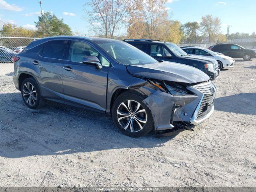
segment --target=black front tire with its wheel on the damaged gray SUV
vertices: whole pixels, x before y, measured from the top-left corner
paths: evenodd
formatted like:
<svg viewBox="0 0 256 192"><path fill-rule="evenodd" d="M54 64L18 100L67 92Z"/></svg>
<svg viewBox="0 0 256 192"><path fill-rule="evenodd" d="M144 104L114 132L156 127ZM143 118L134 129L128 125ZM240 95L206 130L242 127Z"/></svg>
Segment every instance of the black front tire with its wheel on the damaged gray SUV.
<svg viewBox="0 0 256 192"><path fill-rule="evenodd" d="M112 107L112 119L115 126L120 130L120 132L130 137L140 137L148 134L154 128L154 121L153 121L151 111L143 103L143 100L144 98L140 94L136 94L134 92L124 92L120 94L118 98L116 98ZM130 101L129 109L132 108L132 110L134 110L132 111L131 114L129 114L128 110L126 110L127 108L122 105L122 103L124 103L128 106L128 101ZM136 110L138 106L139 108ZM122 109L126 111L125 116L123 114L121 116L118 114L120 112L123 112ZM143 111L143 112L138 113L138 111ZM126 116L129 116L129 117L126 117ZM124 118L118 121L120 117L124 117ZM145 120L146 120L146 123L142 123L142 121L145 121ZM129 121L131 122L130 124L128 124ZM126 129L123 128L127 126L127 124L128 124L128 128Z"/></svg>

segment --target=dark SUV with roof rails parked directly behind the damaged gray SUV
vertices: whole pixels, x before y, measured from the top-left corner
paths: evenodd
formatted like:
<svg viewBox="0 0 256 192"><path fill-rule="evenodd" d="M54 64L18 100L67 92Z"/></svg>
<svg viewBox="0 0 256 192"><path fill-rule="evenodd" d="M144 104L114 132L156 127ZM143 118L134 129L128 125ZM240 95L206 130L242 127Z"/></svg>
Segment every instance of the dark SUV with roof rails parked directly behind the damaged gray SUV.
<svg viewBox="0 0 256 192"><path fill-rule="evenodd" d="M216 79L220 73L216 60L189 55L173 43L150 39L125 39L123 41L149 54L156 60L176 62L198 68L206 73L211 80Z"/></svg>

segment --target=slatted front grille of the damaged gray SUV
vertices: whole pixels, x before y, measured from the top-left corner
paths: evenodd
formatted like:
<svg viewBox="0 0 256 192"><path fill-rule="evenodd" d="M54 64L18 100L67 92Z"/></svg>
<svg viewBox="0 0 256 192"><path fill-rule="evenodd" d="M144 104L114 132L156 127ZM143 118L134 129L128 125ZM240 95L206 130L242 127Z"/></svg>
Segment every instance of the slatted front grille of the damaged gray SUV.
<svg viewBox="0 0 256 192"><path fill-rule="evenodd" d="M204 94L200 108L197 113L197 118L199 118L204 114L207 114L207 112L212 108L215 94L212 82L198 84L194 87Z"/></svg>

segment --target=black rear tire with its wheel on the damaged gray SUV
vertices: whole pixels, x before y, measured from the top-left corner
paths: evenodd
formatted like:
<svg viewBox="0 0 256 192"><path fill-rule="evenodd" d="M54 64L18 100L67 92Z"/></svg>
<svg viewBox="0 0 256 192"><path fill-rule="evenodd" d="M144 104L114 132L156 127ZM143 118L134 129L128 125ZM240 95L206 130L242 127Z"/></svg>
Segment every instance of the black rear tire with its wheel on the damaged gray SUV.
<svg viewBox="0 0 256 192"><path fill-rule="evenodd" d="M41 97L40 89L34 78L26 78L20 89L22 99L29 108L38 109L45 105L45 100Z"/></svg>

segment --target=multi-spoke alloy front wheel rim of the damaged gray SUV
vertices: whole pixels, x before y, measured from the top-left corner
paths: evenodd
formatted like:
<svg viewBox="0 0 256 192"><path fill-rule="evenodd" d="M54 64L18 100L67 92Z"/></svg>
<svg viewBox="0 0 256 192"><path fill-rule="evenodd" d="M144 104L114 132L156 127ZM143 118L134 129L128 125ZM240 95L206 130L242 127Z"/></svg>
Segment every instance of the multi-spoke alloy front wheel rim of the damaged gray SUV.
<svg viewBox="0 0 256 192"><path fill-rule="evenodd" d="M144 107L137 101L127 100L118 106L117 120L124 130L138 132L147 123L147 114Z"/></svg>

